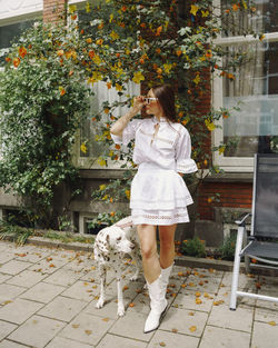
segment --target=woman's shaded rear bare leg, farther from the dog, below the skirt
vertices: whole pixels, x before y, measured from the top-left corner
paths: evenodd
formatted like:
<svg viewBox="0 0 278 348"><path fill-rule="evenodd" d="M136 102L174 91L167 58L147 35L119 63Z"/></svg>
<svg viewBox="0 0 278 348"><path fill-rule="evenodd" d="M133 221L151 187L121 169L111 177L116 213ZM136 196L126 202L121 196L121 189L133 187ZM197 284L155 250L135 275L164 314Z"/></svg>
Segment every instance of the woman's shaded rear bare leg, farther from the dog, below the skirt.
<svg viewBox="0 0 278 348"><path fill-rule="evenodd" d="M168 268L175 258L175 231L177 225L159 226L160 267Z"/></svg>

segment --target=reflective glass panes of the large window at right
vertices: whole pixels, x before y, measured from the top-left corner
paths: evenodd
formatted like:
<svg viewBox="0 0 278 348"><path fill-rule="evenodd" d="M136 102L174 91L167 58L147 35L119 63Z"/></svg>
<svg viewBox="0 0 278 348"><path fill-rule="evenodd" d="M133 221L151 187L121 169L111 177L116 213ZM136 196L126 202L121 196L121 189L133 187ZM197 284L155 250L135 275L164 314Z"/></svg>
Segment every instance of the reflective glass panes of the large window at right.
<svg viewBox="0 0 278 348"><path fill-rule="evenodd" d="M227 3L228 1L226 1ZM277 1L257 1L264 30L271 26ZM278 19L276 9L276 16ZM249 18L250 20L250 18ZM230 34L230 33L229 33ZM237 53L244 53L244 63L229 68L235 76L224 79L224 107L237 108L224 120L226 157L252 157L256 152L278 152L278 42L258 41L227 47L224 66L230 67Z"/></svg>

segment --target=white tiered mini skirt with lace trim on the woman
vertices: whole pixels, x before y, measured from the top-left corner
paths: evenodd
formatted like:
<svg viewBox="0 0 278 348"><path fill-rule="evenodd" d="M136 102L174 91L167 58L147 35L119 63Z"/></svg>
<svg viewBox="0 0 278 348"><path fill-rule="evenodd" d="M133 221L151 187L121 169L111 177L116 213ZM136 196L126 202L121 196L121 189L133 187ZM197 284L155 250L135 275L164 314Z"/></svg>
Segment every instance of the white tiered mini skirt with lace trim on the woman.
<svg viewBox="0 0 278 348"><path fill-rule="evenodd" d="M173 169L152 163L139 166L131 183L130 208L135 225L173 225L188 222L187 206L192 198L182 179Z"/></svg>

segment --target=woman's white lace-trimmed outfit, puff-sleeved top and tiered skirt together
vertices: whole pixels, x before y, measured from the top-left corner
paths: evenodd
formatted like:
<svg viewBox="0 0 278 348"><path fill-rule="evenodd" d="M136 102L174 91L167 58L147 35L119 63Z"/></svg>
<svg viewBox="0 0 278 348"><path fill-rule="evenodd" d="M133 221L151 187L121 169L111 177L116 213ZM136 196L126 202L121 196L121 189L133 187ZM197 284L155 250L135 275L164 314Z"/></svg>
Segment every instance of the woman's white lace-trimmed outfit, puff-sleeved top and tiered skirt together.
<svg viewBox="0 0 278 348"><path fill-rule="evenodd" d="M178 172L197 171L191 156L191 140L180 123L133 119L116 143L135 139L133 162L139 166L131 183L130 208L135 225L173 225L188 222L187 206L192 203L188 188Z"/></svg>

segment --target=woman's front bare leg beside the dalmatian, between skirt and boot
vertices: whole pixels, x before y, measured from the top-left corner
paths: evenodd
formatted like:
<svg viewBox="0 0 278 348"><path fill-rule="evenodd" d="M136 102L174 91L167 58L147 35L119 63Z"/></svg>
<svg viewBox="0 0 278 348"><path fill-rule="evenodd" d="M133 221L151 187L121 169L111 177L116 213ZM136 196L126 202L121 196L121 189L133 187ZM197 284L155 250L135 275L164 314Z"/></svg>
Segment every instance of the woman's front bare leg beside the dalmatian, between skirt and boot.
<svg viewBox="0 0 278 348"><path fill-rule="evenodd" d="M161 274L161 267L157 253L157 227L153 225L138 225L137 231L141 245L145 278L148 284L151 284Z"/></svg>

